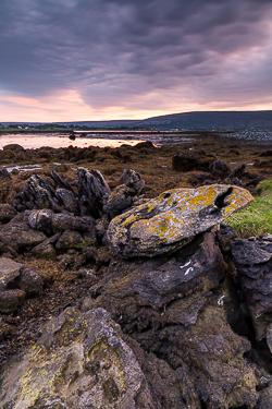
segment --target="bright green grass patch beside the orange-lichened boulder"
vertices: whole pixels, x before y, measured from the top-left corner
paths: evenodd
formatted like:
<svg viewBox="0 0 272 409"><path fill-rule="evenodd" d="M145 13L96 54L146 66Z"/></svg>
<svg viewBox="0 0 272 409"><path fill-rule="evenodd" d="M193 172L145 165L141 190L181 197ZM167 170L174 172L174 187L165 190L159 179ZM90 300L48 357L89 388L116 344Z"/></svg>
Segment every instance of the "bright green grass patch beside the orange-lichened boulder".
<svg viewBox="0 0 272 409"><path fill-rule="evenodd" d="M254 203L226 219L239 237L249 238L261 233L272 234L272 181L264 180L257 187Z"/></svg>

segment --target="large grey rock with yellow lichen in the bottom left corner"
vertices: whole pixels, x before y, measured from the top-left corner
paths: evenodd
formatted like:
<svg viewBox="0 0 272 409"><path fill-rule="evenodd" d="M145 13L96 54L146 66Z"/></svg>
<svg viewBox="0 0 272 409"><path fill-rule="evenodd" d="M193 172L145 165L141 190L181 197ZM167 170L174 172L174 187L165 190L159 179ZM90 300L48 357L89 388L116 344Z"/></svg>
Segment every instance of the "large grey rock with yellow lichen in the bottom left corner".
<svg viewBox="0 0 272 409"><path fill-rule="evenodd" d="M0 380L4 408L158 408L120 326L103 309L66 309Z"/></svg>

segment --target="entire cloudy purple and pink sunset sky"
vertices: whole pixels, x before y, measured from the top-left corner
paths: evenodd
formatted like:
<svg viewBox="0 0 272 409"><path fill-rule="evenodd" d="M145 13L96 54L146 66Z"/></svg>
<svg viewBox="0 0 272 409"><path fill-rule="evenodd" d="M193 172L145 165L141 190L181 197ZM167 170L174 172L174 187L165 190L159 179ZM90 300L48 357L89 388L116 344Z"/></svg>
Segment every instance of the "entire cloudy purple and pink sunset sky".
<svg viewBox="0 0 272 409"><path fill-rule="evenodd" d="M1 0L0 121L272 109L272 0Z"/></svg>

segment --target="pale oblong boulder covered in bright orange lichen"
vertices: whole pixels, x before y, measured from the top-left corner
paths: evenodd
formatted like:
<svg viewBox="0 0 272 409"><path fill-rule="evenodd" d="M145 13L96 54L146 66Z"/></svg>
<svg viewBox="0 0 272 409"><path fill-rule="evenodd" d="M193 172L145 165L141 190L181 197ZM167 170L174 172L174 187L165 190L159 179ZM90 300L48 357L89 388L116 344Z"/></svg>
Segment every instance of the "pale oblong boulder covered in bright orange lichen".
<svg viewBox="0 0 272 409"><path fill-rule="evenodd" d="M223 184L166 191L115 217L108 229L110 246L124 257L173 252L252 200L245 189Z"/></svg>

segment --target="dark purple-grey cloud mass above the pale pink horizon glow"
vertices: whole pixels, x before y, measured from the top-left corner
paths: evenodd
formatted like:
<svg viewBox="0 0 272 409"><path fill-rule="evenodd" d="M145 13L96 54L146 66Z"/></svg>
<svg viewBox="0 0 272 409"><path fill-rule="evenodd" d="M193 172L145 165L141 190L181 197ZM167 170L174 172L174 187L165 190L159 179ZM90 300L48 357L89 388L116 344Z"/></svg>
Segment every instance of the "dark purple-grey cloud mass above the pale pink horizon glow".
<svg viewBox="0 0 272 409"><path fill-rule="evenodd" d="M0 87L36 97L75 88L92 106L188 84L200 99L240 81L268 91L270 56L227 70L230 56L269 41L271 10L268 0L2 0Z"/></svg>

